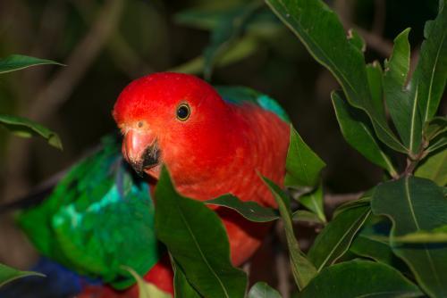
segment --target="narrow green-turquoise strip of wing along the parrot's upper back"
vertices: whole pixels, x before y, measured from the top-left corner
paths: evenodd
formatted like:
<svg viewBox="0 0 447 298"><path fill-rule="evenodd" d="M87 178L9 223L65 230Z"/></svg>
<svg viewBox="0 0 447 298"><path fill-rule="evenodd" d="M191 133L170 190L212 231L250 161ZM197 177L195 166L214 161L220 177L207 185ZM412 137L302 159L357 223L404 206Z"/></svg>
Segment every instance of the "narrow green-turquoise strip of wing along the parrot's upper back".
<svg viewBox="0 0 447 298"><path fill-rule="evenodd" d="M291 122L289 116L283 110L281 105L268 95L257 92L249 87L218 86L215 87L215 89L219 95L223 97L223 100L229 103L254 103L267 111L274 112L279 118L287 123Z"/></svg>

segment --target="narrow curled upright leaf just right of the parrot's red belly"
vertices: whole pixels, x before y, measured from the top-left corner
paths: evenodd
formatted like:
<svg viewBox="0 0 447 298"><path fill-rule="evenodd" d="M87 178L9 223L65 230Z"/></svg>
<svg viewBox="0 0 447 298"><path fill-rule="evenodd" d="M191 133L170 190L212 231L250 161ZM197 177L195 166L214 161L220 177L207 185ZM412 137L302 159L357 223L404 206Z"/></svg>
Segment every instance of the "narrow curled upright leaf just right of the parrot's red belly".
<svg viewBox="0 0 447 298"><path fill-rule="evenodd" d="M276 186L273 181L265 177L263 179L274 195L274 200L278 203L278 208L284 223L287 246L289 247L291 272L295 278L295 283L297 284L299 290L301 290L308 285L308 282L313 277L316 276L316 269L314 265L308 261L306 255L299 249L297 238L293 232L290 198L279 186Z"/></svg>

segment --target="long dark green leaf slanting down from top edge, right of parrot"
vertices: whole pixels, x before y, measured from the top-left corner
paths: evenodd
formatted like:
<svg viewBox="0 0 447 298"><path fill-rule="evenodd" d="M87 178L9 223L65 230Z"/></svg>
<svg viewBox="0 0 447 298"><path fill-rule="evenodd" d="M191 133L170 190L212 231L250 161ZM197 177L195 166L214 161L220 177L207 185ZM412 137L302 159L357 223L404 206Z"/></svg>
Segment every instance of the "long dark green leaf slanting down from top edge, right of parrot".
<svg viewBox="0 0 447 298"><path fill-rule="evenodd" d="M377 137L392 149L407 153L389 128L384 112L375 109L365 58L358 46L346 37L337 15L321 0L266 0L266 3L299 37L316 61L333 73L349 103L367 112Z"/></svg>

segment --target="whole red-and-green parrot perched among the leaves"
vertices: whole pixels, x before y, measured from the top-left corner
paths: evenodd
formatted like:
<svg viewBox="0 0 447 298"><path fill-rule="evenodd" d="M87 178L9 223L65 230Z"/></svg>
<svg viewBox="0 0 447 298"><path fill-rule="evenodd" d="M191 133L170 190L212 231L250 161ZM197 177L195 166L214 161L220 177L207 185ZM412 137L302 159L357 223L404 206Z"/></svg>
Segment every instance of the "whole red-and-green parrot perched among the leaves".
<svg viewBox="0 0 447 298"><path fill-rule="evenodd" d="M172 72L132 81L113 116L122 145L119 137L105 137L96 153L74 165L19 222L42 254L80 274L80 297L136 297L134 279L122 265L173 294L173 272L156 242L150 195L162 165L181 195L205 201L232 194L276 207L260 175L283 186L290 120L257 91L214 88ZM209 207L223 220L232 263L239 266L256 252L270 224Z"/></svg>

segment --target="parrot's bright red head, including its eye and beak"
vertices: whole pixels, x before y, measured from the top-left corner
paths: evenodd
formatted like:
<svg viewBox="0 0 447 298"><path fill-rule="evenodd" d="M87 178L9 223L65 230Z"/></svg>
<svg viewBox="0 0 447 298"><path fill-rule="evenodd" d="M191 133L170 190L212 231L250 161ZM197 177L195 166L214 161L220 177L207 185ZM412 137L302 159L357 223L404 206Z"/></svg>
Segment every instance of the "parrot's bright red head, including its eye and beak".
<svg viewBox="0 0 447 298"><path fill-rule="evenodd" d="M228 156L231 108L194 76L155 73L122 90L113 116L124 137L122 154L140 175L213 167ZM188 179L188 175L184 175Z"/></svg>

